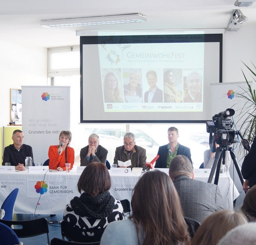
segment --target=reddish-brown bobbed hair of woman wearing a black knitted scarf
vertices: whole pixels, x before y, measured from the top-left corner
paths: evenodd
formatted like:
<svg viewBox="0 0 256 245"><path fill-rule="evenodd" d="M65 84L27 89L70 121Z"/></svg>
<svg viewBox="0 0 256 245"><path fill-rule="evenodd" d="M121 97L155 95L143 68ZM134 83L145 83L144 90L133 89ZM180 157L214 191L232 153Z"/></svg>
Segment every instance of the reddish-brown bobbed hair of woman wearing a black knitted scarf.
<svg viewBox="0 0 256 245"><path fill-rule="evenodd" d="M103 163L92 162L86 166L78 180L79 193L86 192L97 196L111 187L111 179L107 167Z"/></svg>

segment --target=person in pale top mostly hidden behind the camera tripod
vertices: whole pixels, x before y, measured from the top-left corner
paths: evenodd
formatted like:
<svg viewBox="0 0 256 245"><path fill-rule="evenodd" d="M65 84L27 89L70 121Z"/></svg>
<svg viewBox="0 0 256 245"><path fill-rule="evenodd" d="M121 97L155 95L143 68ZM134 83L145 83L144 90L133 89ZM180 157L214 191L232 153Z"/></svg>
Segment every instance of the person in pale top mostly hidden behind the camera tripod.
<svg viewBox="0 0 256 245"><path fill-rule="evenodd" d="M215 143L215 147L219 147L217 143ZM223 157L224 152L221 157ZM215 152L212 152L211 149L204 151L203 153L203 168L211 168L214 162ZM223 159L222 159L223 161ZM229 151L225 151L225 165L221 164L221 168L224 168L224 172L226 172L231 164L231 155Z"/></svg>

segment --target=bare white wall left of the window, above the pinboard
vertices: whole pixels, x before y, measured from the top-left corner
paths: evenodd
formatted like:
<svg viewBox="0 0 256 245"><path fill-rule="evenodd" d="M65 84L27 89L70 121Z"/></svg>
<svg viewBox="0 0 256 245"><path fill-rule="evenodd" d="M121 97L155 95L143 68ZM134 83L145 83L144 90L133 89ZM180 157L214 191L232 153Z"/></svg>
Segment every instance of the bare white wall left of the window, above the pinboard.
<svg viewBox="0 0 256 245"><path fill-rule="evenodd" d="M19 38L12 41L0 39L0 126L10 122L10 88L47 85L47 48L21 46Z"/></svg>

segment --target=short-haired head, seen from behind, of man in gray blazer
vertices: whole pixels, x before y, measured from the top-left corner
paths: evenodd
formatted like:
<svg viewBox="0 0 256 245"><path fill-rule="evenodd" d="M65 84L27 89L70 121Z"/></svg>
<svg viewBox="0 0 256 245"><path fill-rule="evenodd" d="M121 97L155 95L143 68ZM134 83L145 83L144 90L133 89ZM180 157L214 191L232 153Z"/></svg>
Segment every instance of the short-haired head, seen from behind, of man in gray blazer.
<svg viewBox="0 0 256 245"><path fill-rule="evenodd" d="M171 179L175 179L180 175L186 175L189 178L193 176L193 167L190 160L183 155L178 155L171 160L169 167L169 175Z"/></svg>

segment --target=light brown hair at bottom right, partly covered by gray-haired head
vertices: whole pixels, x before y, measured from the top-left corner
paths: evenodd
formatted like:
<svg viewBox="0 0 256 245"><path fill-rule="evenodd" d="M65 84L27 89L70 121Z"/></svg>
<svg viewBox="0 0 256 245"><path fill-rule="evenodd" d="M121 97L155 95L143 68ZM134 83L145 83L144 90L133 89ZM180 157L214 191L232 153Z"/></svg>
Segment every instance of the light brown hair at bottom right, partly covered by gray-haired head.
<svg viewBox="0 0 256 245"><path fill-rule="evenodd" d="M220 210L208 216L198 228L191 245L216 245L234 227L247 223L245 216L230 210Z"/></svg>

